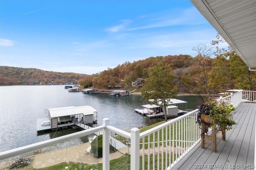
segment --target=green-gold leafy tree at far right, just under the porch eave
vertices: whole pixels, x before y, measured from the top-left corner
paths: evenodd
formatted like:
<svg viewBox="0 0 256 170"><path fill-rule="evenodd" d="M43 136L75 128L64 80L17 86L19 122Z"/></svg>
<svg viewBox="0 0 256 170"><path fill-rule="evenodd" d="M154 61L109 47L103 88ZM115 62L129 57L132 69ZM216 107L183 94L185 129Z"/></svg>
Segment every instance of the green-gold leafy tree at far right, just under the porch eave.
<svg viewBox="0 0 256 170"><path fill-rule="evenodd" d="M225 44L225 46L223 45ZM218 34L212 41L216 45L216 58L210 72L210 86L224 91L226 89L253 90L256 84L256 73L250 71L242 59ZM222 47L222 48L221 48Z"/></svg>

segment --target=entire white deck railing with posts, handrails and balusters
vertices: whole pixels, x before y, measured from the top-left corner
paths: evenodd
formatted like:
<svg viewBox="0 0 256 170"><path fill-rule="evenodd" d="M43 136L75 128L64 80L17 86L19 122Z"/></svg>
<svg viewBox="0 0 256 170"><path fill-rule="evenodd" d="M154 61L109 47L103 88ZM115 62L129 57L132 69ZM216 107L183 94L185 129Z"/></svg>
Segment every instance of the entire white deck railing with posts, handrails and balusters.
<svg viewBox="0 0 256 170"><path fill-rule="evenodd" d="M241 91L222 100L238 106L242 99L255 102L255 96L255 91ZM110 132L130 140L130 147L128 146L127 149L130 154L130 169L171 169L200 142L200 129L196 124L197 114L198 109L190 111L142 133L138 128L131 129L130 133L122 131L111 126L110 120L105 118L102 121L103 125L98 127L0 152L0 161L102 131L104 170L110 169ZM141 165L140 162L142 162Z"/></svg>

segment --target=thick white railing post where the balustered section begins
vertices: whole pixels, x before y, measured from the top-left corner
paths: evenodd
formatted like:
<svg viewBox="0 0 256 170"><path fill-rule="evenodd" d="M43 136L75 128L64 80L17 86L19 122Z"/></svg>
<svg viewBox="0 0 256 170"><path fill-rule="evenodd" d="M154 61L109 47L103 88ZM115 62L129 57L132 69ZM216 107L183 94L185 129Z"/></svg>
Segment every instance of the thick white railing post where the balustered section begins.
<svg viewBox="0 0 256 170"><path fill-rule="evenodd" d="M140 168L140 129L131 129L131 170Z"/></svg>

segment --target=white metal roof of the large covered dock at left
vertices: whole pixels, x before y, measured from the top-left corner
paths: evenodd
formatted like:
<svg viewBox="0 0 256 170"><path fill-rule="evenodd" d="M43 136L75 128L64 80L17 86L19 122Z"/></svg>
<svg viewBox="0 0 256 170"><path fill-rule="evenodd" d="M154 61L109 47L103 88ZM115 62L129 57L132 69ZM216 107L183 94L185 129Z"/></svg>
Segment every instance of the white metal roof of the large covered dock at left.
<svg viewBox="0 0 256 170"><path fill-rule="evenodd" d="M70 106L70 107L58 107L48 109L51 117L61 117L61 116L68 116L68 115L77 115L77 114L84 114L84 115L92 115L97 110L95 110L91 106Z"/></svg>

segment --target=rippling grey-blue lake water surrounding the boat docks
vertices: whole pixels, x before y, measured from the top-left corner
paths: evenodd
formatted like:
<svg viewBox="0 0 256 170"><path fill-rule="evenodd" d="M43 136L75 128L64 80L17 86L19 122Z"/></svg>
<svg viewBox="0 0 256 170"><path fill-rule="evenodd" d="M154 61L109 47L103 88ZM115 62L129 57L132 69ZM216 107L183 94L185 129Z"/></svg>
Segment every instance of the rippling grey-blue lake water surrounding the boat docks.
<svg viewBox="0 0 256 170"><path fill-rule="evenodd" d="M36 119L44 118L44 109L67 106L92 106L98 111L98 125L103 118L110 119L110 125L124 131L134 127L148 126L163 118L149 119L136 112L143 104L140 95L108 96L108 94L83 94L68 92L64 85L58 86L1 86L0 87L0 152L32 143L59 137L79 129L52 131L38 135ZM188 102L187 108L194 109L200 96L179 96ZM64 143L65 147L88 142L89 137ZM58 149L52 146L48 150Z"/></svg>

